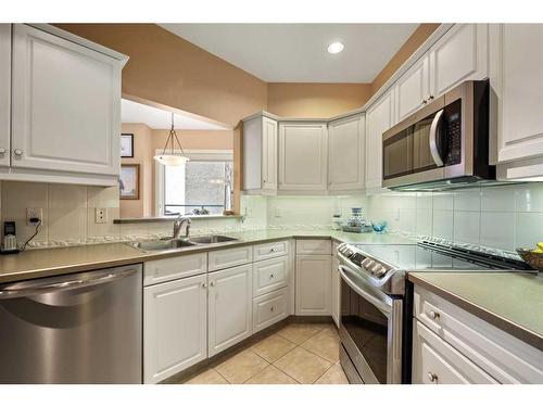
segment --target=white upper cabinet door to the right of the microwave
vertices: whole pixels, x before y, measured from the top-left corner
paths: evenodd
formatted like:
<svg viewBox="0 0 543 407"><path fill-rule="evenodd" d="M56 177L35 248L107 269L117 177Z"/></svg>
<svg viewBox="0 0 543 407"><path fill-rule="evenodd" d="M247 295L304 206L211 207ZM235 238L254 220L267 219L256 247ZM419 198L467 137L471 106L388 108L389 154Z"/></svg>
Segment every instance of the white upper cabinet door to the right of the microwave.
<svg viewBox="0 0 543 407"><path fill-rule="evenodd" d="M542 155L543 24L492 25L490 53L497 162Z"/></svg>

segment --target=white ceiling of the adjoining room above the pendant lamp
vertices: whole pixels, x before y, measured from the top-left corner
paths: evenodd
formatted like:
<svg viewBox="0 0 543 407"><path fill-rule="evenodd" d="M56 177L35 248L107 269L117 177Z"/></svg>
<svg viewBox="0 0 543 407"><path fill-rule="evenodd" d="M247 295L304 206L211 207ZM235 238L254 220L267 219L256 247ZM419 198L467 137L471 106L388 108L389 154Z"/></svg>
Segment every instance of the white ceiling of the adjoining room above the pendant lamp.
<svg viewBox="0 0 543 407"><path fill-rule="evenodd" d="M123 99L121 122L144 123L152 129L168 129L172 126L172 112ZM176 130L226 130L226 127L199 119L189 114L175 113L174 123Z"/></svg>

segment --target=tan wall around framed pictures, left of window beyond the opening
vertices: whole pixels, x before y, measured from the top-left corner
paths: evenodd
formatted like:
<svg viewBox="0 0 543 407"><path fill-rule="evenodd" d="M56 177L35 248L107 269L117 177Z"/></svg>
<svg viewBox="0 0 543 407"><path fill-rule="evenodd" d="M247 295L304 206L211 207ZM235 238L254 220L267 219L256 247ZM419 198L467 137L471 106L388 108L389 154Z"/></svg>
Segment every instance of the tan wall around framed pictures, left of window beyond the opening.
<svg viewBox="0 0 543 407"><path fill-rule="evenodd" d="M139 164L139 200L121 200L121 217L151 216L153 213L153 135L144 124L123 124L122 132L134 133L134 158L121 164Z"/></svg>

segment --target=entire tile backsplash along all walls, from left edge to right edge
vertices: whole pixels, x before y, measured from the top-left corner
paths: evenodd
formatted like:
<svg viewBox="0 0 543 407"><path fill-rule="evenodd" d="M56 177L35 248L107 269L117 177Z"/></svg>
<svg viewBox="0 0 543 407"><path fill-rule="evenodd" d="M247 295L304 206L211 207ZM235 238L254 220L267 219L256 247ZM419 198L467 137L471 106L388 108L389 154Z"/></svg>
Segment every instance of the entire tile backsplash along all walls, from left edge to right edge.
<svg viewBox="0 0 543 407"><path fill-rule="evenodd" d="M0 182L0 218L15 220L17 240L26 226L26 208L40 207L43 222L30 246L59 246L165 237L172 222L114 225L119 217L118 188L36 182ZM96 208L108 221L94 221ZM389 229L513 251L543 241L543 182L472 188L452 192L384 193L366 196L241 196L242 219L193 219L192 233L251 229L329 229L332 215L350 216L363 207L371 220Z"/></svg>

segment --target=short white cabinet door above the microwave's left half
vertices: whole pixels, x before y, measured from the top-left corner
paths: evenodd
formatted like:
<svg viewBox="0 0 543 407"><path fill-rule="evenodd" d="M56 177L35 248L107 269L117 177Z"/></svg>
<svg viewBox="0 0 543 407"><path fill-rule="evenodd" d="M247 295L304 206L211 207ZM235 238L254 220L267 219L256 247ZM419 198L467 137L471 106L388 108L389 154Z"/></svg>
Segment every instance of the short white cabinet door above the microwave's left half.
<svg viewBox="0 0 543 407"><path fill-rule="evenodd" d="M397 122L425 106L430 99L430 72L427 55L418 60L394 86Z"/></svg>

